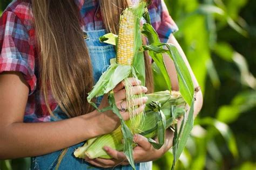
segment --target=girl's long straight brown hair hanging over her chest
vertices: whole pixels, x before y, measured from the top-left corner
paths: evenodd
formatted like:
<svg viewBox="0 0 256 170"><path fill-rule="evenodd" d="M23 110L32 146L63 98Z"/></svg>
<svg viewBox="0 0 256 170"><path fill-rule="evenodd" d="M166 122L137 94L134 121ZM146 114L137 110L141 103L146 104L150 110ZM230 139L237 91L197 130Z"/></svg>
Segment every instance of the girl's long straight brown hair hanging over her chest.
<svg viewBox="0 0 256 170"><path fill-rule="evenodd" d="M117 34L120 13L130 0L99 1L106 30ZM41 91L50 114L48 90L69 117L92 111L87 93L93 86L92 66L83 38L80 12L75 0L32 0L39 54ZM111 12L110 12L111 11ZM153 78L147 54L146 86L153 91Z"/></svg>

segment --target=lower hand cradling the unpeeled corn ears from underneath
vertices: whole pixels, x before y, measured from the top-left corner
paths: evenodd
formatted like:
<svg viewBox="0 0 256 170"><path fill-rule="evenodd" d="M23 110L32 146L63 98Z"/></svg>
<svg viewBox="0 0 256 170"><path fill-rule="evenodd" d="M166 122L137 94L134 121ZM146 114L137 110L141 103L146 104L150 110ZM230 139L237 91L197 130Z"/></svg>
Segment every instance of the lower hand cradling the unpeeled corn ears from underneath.
<svg viewBox="0 0 256 170"><path fill-rule="evenodd" d="M147 141L147 138L145 138L144 136L141 136L140 134L134 135L133 140L135 143L138 144L138 146L133 148L134 162L137 163L156 160L160 158L165 152L167 152L172 146L173 132L170 130L166 130L165 134L165 144L159 150L154 149L154 147L149 143L149 141ZM157 139L156 142L158 142ZM107 146L105 146L104 149L107 152L107 154L113 157L112 159L85 158L85 160L92 165L103 168L129 164L129 162L126 159L126 156L124 155L124 152L118 152Z"/></svg>

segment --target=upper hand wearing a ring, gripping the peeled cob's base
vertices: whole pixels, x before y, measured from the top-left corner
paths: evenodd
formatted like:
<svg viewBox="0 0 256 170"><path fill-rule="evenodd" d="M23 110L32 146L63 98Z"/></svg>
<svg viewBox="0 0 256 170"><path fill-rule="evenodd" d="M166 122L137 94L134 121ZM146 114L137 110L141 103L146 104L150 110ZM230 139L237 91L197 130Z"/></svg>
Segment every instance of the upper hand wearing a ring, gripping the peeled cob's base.
<svg viewBox="0 0 256 170"><path fill-rule="evenodd" d="M146 93L147 88L144 86L140 86L140 81L138 79L134 79L134 78L129 78L129 81L132 84L132 91L133 94L142 94L142 93ZM127 103L125 101L126 99L126 91L124 88L124 82L120 82L119 84L117 84L117 86L113 89L114 92L114 100L116 101L116 105L118 107L118 109L120 108L126 108L127 107ZM134 113L135 114L139 114L140 112L142 112L145 108L145 103L147 101L147 97L142 97L142 98L136 98L134 100L134 103L136 103L136 105L138 105L137 109L134 109ZM122 104L122 107L121 107ZM99 105L99 109L103 109L105 107L109 106L109 102L107 100L107 95L103 96L103 100L102 103L100 103ZM110 133L113 130L117 129L118 126L120 125L120 120L119 118L112 112L112 110L109 111L105 111L105 112L98 112L96 113L98 116L98 125L100 128L100 132L99 134L106 134L106 133ZM130 114L128 111L123 111L120 112L120 114L122 115L124 121L127 121L128 119L130 119Z"/></svg>

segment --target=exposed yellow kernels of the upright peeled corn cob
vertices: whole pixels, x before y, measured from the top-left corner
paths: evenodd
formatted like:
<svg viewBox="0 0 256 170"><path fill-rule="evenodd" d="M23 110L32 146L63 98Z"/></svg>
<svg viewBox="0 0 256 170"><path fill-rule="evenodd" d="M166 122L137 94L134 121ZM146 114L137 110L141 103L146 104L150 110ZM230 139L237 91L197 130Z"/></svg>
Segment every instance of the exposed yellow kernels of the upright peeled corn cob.
<svg viewBox="0 0 256 170"><path fill-rule="evenodd" d="M134 14L126 9L120 17L117 63L131 65L134 55Z"/></svg>

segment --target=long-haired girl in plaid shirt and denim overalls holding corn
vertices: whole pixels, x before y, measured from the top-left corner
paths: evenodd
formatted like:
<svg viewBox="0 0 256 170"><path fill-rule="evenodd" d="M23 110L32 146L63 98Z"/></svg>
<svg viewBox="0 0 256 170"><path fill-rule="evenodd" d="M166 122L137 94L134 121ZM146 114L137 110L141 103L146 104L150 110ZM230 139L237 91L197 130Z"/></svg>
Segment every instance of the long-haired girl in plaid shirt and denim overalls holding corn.
<svg viewBox="0 0 256 170"><path fill-rule="evenodd" d="M117 34L120 13L139 0L15 0L0 18L0 159L31 157L31 169L132 169L123 152L106 147L113 159L78 159L73 151L87 139L112 132L120 123L111 111L98 112L86 101L87 93L116 56L112 45L99 42L107 32ZM153 0L149 13L162 42L172 42L186 56L172 33L177 25L163 0ZM145 56L146 87L152 93L151 59ZM165 58L178 90L173 62ZM198 82L190 68L194 86ZM131 79L132 81L138 81ZM138 90L139 89L139 90ZM114 89L116 104L125 101L123 84ZM99 108L107 97L96 98ZM146 98L143 98L143 103ZM197 93L195 115L202 104ZM144 105L138 103L139 108ZM127 111L122 112L127 117ZM128 117L129 118L129 117ZM172 146L173 133L155 150L145 137L136 135L136 169L152 169Z"/></svg>

